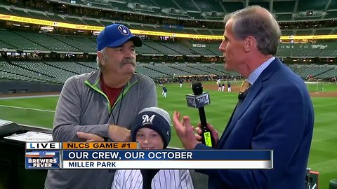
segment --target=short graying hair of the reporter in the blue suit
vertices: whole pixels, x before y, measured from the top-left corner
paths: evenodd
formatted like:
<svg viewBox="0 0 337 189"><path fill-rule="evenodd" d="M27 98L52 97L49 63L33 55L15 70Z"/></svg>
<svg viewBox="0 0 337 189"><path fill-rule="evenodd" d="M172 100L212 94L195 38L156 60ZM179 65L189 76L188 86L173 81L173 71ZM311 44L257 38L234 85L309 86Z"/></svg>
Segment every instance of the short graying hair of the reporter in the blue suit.
<svg viewBox="0 0 337 189"><path fill-rule="evenodd" d="M258 50L263 55L276 55L281 29L271 14L268 16L261 13L260 10L269 13L268 10L260 6L248 6L225 15L223 22L233 20L232 32L237 40L253 36L258 43Z"/></svg>

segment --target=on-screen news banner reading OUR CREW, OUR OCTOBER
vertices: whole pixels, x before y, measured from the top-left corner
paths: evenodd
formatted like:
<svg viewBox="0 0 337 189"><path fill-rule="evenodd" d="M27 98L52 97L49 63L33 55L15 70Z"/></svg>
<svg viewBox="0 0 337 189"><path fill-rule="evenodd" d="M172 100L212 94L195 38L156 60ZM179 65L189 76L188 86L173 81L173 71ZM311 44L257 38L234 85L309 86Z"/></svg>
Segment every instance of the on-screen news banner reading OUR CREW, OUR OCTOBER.
<svg viewBox="0 0 337 189"><path fill-rule="evenodd" d="M26 169L272 169L272 151L143 150L136 142L26 143Z"/></svg>

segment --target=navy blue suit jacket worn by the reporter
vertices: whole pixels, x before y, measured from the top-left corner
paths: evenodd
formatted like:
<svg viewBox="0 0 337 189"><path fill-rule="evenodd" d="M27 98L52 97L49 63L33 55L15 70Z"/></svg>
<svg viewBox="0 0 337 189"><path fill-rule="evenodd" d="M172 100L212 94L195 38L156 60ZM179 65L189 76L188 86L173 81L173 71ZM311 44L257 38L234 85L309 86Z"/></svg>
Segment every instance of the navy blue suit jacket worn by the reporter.
<svg viewBox="0 0 337 189"><path fill-rule="evenodd" d="M314 111L305 83L275 59L232 113L216 146L272 149L274 169L196 171L209 175L209 188L304 188L313 125ZM211 148L198 144L195 149Z"/></svg>

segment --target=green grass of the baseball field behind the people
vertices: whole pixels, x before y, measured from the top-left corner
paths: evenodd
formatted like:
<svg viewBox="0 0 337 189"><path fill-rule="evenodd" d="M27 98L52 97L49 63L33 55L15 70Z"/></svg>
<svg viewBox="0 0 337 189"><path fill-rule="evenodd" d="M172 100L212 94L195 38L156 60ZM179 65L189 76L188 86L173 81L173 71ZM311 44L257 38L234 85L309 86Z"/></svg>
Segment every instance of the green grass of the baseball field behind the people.
<svg viewBox="0 0 337 189"><path fill-rule="evenodd" d="M157 87L159 107L166 109L171 116L175 110L182 115L190 116L192 125L197 125L198 110L187 107L185 100L185 94L192 93L190 84L184 83L182 88L178 83L166 86L168 87L167 98L161 96L161 87ZM337 91L335 84L324 83L322 87L325 92ZM237 93L218 91L209 91L209 93L211 104L205 106L207 122L216 127L221 134L237 102ZM54 111L57 100L58 97L0 99L0 119L52 128L53 112L16 109L1 105ZM308 167L319 172L319 188L329 188L329 180L337 179L337 98L312 97L312 102L315 107L315 128ZM170 146L182 147L174 130L172 136Z"/></svg>

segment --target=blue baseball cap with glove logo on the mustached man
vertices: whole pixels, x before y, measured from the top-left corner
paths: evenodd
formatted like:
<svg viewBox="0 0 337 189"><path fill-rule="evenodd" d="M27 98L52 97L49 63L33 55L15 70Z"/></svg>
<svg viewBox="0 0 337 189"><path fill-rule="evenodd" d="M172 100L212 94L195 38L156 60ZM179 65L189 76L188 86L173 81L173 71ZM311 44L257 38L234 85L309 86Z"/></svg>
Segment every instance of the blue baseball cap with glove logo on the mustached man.
<svg viewBox="0 0 337 189"><path fill-rule="evenodd" d="M100 51L105 47L116 48L130 40L136 47L143 45L142 40L138 36L133 36L128 27L121 24L109 25L97 36L97 50Z"/></svg>

